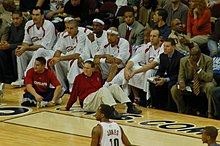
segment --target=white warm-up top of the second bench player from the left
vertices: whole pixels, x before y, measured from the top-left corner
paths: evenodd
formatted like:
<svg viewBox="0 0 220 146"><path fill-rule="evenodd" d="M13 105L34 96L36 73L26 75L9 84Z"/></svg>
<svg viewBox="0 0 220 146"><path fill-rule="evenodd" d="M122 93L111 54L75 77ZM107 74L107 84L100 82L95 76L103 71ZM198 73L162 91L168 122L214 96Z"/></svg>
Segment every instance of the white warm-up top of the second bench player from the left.
<svg viewBox="0 0 220 146"><path fill-rule="evenodd" d="M60 50L65 55L81 53L85 47L86 37L86 34L80 30L73 38L68 34L68 32L65 32L64 34L60 35L57 43L54 46L54 50Z"/></svg>

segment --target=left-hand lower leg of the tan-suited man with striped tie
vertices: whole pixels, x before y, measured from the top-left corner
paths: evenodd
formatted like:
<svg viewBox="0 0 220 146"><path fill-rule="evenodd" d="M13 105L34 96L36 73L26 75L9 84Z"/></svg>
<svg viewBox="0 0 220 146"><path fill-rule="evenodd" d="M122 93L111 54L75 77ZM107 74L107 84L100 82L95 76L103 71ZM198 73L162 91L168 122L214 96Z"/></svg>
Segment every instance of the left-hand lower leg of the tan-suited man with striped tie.
<svg viewBox="0 0 220 146"><path fill-rule="evenodd" d="M184 113L185 103L184 103L184 100L183 100L182 91L177 89L176 85L173 85L173 87L171 88L171 95L172 95L172 98L173 98L174 102L176 103L178 112L179 113Z"/></svg>

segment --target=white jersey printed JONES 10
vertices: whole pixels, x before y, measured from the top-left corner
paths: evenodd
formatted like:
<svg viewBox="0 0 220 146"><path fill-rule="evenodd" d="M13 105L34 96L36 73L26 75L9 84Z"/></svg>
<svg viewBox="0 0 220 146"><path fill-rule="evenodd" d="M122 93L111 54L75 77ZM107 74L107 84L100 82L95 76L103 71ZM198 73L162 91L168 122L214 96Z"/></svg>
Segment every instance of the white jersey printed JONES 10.
<svg viewBox="0 0 220 146"><path fill-rule="evenodd" d="M115 122L101 122L102 136L100 146L123 146L121 128Z"/></svg>

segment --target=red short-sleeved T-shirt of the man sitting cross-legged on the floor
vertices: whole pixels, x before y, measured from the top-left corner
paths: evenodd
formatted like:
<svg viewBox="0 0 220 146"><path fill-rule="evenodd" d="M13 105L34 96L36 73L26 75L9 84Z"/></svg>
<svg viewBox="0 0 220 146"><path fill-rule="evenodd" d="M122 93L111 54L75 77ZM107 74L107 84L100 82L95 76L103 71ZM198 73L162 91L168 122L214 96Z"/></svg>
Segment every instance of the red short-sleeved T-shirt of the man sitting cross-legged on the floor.
<svg viewBox="0 0 220 146"><path fill-rule="evenodd" d="M25 84L31 84L37 93L48 92L50 84L54 87L60 85L55 74L46 68L41 74L34 72L34 68L29 69L25 77Z"/></svg>

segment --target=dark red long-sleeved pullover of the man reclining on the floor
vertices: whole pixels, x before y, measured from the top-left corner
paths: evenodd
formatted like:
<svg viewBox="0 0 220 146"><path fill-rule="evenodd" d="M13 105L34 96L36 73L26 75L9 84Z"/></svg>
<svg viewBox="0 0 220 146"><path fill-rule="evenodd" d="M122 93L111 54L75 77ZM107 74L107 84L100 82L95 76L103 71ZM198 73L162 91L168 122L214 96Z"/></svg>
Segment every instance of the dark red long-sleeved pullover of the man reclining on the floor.
<svg viewBox="0 0 220 146"><path fill-rule="evenodd" d="M91 77L86 76L84 73L79 74L73 83L66 109L69 110L73 103L76 102L77 96L80 101L83 101L89 94L96 92L101 87L102 75L100 72L94 72Z"/></svg>

